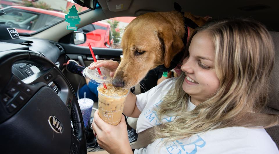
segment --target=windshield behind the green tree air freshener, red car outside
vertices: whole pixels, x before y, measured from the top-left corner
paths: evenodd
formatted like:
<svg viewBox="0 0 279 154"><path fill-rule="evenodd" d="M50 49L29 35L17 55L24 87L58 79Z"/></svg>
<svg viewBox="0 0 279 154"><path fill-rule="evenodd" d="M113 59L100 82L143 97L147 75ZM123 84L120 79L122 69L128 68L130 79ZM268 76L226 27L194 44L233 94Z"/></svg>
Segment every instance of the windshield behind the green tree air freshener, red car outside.
<svg viewBox="0 0 279 154"><path fill-rule="evenodd" d="M75 5L78 13L88 10L72 0L0 0L0 24L31 34L64 20Z"/></svg>

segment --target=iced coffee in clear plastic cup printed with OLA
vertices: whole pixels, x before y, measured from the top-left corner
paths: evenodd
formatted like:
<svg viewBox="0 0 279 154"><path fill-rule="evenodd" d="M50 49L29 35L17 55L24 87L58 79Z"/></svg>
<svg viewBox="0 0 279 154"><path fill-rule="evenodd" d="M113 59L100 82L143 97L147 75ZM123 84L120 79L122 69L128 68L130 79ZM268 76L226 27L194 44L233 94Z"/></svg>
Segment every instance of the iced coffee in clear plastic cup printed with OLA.
<svg viewBox="0 0 279 154"><path fill-rule="evenodd" d="M128 89L115 88L112 84L103 84L98 86L99 92L99 116L106 123L117 125L121 120L124 102L129 93Z"/></svg>

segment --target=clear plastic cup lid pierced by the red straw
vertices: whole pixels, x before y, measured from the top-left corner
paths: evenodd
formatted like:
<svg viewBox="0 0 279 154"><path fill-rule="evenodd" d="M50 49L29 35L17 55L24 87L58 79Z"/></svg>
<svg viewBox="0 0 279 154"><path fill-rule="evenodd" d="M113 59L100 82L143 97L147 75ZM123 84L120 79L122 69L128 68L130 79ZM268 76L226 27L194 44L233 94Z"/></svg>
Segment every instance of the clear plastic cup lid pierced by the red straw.
<svg viewBox="0 0 279 154"><path fill-rule="evenodd" d="M101 83L109 83L112 81L112 77L110 77L110 72L108 68L100 67L101 75L98 73L97 68L94 70L89 69L89 66L84 68L82 74L83 76L88 79L90 82L94 84L101 84Z"/></svg>

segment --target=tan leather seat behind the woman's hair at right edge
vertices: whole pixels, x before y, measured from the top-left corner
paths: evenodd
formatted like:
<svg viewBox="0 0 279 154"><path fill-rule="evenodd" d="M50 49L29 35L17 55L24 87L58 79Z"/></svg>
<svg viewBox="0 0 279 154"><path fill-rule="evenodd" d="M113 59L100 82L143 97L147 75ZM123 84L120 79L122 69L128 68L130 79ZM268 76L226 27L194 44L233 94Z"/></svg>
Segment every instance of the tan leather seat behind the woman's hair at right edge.
<svg viewBox="0 0 279 154"><path fill-rule="evenodd" d="M267 113L279 114L279 32L270 32L275 45L275 63L270 76L269 102L266 107ZM273 141L279 147L279 126L266 129Z"/></svg>

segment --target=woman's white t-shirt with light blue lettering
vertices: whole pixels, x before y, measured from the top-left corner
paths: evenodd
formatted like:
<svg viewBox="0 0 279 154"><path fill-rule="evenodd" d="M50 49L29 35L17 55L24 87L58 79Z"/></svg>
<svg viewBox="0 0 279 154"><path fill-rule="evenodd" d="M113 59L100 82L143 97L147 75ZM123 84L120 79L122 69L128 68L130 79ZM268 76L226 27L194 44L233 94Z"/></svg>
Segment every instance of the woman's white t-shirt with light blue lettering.
<svg viewBox="0 0 279 154"><path fill-rule="evenodd" d="M158 86L146 93L137 95L136 105L142 112L137 120L137 133L160 124L154 108L162 102L162 98L174 87L175 79L164 80ZM195 105L188 100L188 111ZM170 122L174 117L164 117L162 122ZM246 154L279 154L276 144L263 128L227 127L215 129L206 133L193 135L188 139L179 139L166 145L163 139L156 139L145 148L135 149L135 154L219 154L219 153L246 153Z"/></svg>

